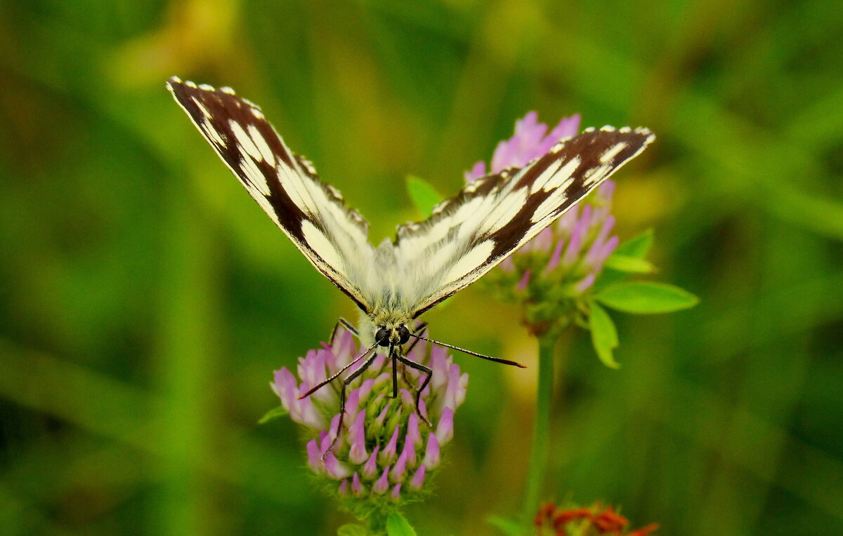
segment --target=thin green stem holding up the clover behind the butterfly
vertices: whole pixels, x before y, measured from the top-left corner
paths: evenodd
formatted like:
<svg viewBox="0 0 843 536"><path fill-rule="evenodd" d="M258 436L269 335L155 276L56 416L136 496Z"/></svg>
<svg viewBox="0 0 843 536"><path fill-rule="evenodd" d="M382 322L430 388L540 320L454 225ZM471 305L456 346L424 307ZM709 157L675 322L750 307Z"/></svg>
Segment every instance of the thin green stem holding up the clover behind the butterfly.
<svg viewBox="0 0 843 536"><path fill-rule="evenodd" d="M539 337L539 382L535 403L533 448L530 451L527 483L524 487L524 521L531 523L539 509L542 485L550 453L550 397L553 394L553 351L556 333L548 330Z"/></svg>

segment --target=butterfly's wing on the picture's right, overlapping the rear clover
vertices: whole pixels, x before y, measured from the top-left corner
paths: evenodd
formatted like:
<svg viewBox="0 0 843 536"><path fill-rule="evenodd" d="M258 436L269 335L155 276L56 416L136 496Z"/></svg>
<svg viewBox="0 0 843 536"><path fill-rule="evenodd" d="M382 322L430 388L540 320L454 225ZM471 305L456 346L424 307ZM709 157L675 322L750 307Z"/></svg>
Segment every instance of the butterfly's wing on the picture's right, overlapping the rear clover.
<svg viewBox="0 0 843 536"><path fill-rule="evenodd" d="M523 168L469 183L426 221L399 226L395 258L405 309L415 318L475 282L654 139L642 128L585 130Z"/></svg>

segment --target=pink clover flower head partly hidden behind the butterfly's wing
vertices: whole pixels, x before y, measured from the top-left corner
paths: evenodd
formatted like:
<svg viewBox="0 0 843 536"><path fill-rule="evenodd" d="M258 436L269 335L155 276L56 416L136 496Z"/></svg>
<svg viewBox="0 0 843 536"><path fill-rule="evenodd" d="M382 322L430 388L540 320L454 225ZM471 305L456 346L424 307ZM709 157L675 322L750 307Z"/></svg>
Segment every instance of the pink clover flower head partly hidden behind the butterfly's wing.
<svg viewBox="0 0 843 536"><path fill-rule="evenodd" d="M529 112L515 123L513 137L498 144L489 171L526 166L558 141L577 135L579 124L579 115L572 115L548 133L547 125L538 122L535 112ZM465 180L471 182L485 174L486 164L477 162L465 173ZM618 237L611 236L615 217L609 214L614 190L612 181L601 184L486 276L502 300L524 306L524 321L533 332L575 320L578 305L618 246Z"/></svg>

